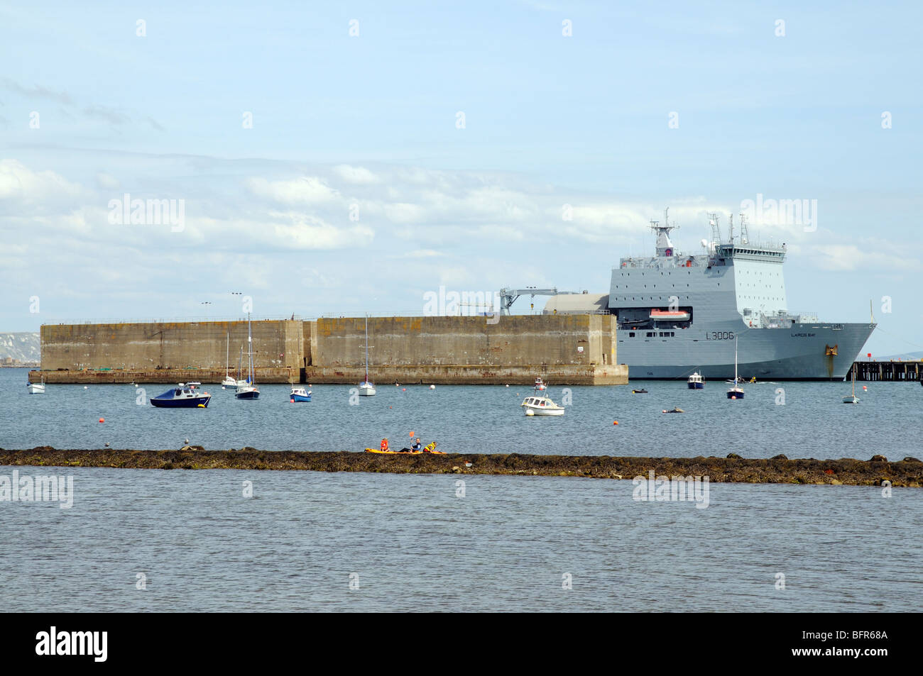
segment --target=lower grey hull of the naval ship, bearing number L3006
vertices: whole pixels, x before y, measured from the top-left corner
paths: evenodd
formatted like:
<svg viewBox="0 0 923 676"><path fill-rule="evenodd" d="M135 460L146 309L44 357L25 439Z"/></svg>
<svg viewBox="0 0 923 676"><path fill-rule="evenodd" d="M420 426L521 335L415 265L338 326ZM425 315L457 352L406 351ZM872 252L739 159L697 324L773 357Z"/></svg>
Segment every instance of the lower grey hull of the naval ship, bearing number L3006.
<svg viewBox="0 0 923 676"><path fill-rule="evenodd" d="M818 322L758 329L722 322L709 330L690 326L669 338L644 338L643 331L629 337L621 330L617 361L628 364L629 380L686 380L697 371L706 381L731 379L737 341L737 371L747 380L843 380L874 327Z"/></svg>

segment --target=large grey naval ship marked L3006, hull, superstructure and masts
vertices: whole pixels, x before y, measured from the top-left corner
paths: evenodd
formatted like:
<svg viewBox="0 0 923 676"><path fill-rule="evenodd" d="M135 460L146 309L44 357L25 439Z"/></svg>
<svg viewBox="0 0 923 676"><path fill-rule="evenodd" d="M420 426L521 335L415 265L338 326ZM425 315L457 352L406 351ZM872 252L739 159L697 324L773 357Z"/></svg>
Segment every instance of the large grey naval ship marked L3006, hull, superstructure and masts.
<svg viewBox="0 0 923 676"><path fill-rule="evenodd" d="M749 242L741 219L721 241L711 215L712 241L686 255L670 241L677 226L651 221L656 255L628 257L612 269L608 309L617 315L618 362L629 378L842 380L875 329L866 323L821 321L789 313L785 301L785 243Z"/></svg>

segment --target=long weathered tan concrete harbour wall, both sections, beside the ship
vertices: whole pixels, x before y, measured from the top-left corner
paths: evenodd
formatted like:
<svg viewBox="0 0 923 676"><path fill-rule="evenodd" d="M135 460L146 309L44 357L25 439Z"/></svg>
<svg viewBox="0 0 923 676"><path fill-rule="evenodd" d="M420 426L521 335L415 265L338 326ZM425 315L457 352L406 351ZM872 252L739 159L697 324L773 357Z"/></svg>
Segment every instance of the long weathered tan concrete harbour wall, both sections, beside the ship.
<svg viewBox="0 0 923 676"><path fill-rule="evenodd" d="M257 382L358 383L366 320L254 321ZM230 339L230 357L226 345ZM370 317L369 375L406 383L624 385L609 315ZM42 326L49 383L221 382L236 373L246 321ZM229 363L230 362L230 363ZM169 373L162 373L169 372Z"/></svg>

